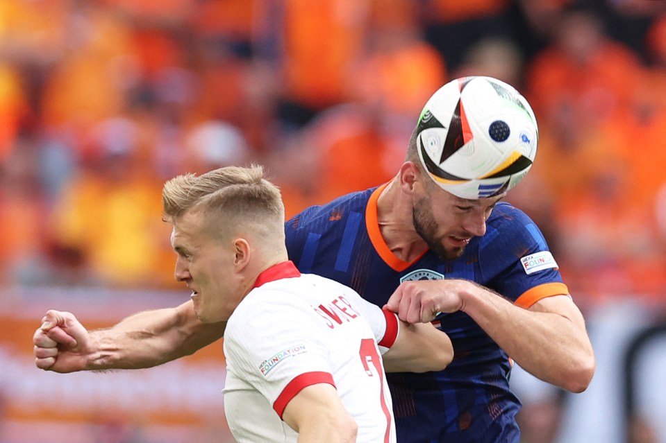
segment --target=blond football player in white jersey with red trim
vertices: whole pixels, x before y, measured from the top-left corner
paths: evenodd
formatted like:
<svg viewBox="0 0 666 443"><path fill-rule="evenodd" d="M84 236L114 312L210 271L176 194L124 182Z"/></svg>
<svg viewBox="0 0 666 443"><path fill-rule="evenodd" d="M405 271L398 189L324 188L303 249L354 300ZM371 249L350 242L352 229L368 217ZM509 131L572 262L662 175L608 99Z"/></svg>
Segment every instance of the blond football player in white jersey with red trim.
<svg viewBox="0 0 666 443"><path fill-rule="evenodd" d="M287 257L280 192L260 166L179 175L164 186L163 209L175 277L192 290L194 313L226 322L225 410L235 439L395 442L383 364L442 370L453 358L448 336L400 322L333 280L301 275ZM76 358L76 348L85 355L88 331L70 313L49 315L75 340L53 358Z"/></svg>

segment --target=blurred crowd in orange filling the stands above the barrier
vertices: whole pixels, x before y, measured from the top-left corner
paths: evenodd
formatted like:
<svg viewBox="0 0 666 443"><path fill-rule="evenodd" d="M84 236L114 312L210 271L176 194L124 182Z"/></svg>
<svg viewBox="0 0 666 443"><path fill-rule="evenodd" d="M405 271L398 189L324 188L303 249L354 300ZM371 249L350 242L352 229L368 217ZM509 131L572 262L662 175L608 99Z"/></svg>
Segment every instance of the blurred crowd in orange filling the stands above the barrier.
<svg viewBox="0 0 666 443"><path fill-rule="evenodd" d="M666 8L647 0L3 0L3 286L177 288L161 186L258 162L288 216L391 179L488 75L540 126L508 200L573 293L666 298Z"/></svg>

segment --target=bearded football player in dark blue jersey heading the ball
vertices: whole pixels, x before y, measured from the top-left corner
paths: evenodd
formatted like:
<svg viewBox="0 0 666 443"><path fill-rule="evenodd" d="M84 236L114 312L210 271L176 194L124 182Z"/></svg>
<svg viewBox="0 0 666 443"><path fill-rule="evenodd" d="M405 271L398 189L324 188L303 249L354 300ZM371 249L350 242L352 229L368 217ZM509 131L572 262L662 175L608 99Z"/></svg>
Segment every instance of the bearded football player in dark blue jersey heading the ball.
<svg viewBox="0 0 666 443"><path fill-rule="evenodd" d="M419 153L423 117L394 180L285 223L289 257L301 272L340 281L451 338L447 369L388 374L398 442L518 443L513 361L582 392L594 374L592 345L540 229L501 202L510 186L478 198L443 189ZM51 311L34 337L36 365L56 372L159 365L222 338L225 327L201 324L191 302L90 333L76 318L56 317ZM76 334L90 344L85 354L56 347Z"/></svg>

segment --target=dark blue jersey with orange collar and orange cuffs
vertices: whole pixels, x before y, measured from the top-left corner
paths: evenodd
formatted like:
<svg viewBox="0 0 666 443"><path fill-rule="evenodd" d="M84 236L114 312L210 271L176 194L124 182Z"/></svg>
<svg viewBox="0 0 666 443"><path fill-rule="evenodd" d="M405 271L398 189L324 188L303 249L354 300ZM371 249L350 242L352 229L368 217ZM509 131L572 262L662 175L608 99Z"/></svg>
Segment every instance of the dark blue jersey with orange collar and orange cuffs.
<svg viewBox="0 0 666 443"><path fill-rule="evenodd" d="M289 258L299 270L351 286L378 306L401 281L414 279L476 281L524 307L568 293L540 229L508 203L494 208L485 235L472 238L462 257L443 260L428 250L410 263L398 259L377 223L382 189L351 193L288 220ZM463 312L433 323L449 335L455 356L441 372L388 374L397 441L519 442L509 356Z"/></svg>

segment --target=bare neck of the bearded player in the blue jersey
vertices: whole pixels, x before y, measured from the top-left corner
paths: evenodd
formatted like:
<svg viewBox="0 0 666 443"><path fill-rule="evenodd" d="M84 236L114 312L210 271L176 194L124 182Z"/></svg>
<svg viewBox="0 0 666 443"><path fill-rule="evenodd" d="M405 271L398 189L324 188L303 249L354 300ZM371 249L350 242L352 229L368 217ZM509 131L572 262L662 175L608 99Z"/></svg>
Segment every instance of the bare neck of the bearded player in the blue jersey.
<svg viewBox="0 0 666 443"><path fill-rule="evenodd" d="M379 232L391 252L402 261L413 261L427 249L414 229L413 202L394 179L377 200Z"/></svg>

